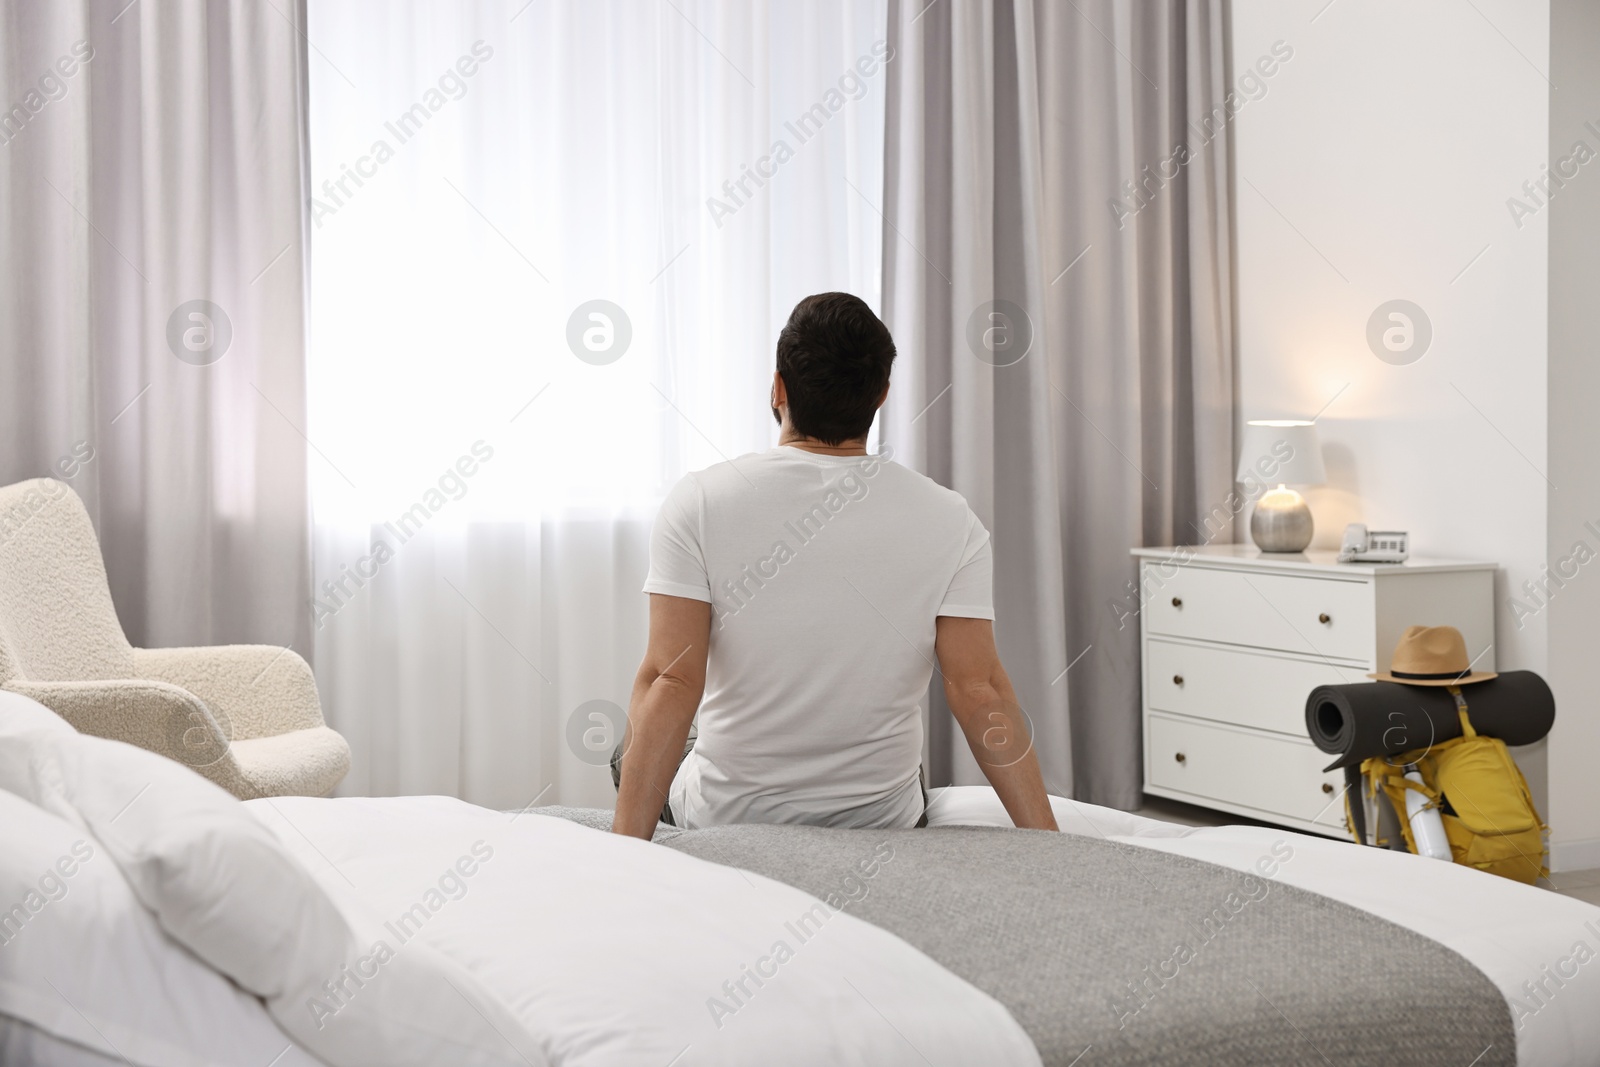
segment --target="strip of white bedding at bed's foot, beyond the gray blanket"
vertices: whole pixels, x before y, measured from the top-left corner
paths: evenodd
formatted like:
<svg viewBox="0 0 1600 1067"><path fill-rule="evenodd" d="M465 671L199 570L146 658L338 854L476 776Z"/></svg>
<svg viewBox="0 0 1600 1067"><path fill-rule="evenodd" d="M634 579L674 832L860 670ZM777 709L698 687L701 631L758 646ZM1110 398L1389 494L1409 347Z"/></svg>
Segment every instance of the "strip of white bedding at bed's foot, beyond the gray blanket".
<svg viewBox="0 0 1600 1067"><path fill-rule="evenodd" d="M1262 856L1286 841L1293 856L1270 877L1432 937L1483 971L1512 1008L1520 1067L1600 1064L1600 907L1458 864L1293 830L1184 827L1061 797L1051 805L1064 833L1258 875ZM928 825L1011 825L1011 819L992 789L957 785L934 792Z"/></svg>

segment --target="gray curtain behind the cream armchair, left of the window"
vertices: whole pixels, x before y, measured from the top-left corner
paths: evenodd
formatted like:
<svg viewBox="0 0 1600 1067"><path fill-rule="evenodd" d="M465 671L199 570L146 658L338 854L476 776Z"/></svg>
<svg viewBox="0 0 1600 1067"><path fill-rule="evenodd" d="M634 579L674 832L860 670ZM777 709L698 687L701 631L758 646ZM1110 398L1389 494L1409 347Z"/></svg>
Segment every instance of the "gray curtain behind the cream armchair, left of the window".
<svg viewBox="0 0 1600 1067"><path fill-rule="evenodd" d="M0 3L0 483L136 645L310 656L302 0Z"/></svg>

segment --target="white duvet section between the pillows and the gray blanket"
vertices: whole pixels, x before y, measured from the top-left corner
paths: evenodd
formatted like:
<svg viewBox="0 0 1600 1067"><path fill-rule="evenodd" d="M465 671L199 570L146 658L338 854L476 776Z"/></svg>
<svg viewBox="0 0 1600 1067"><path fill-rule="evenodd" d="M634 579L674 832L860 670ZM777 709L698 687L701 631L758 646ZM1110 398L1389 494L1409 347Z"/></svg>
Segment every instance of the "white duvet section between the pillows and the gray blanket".
<svg viewBox="0 0 1600 1067"><path fill-rule="evenodd" d="M758 875L443 797L246 806L336 901L392 917L398 953L464 963L555 1065L1038 1064L995 1000Z"/></svg>

